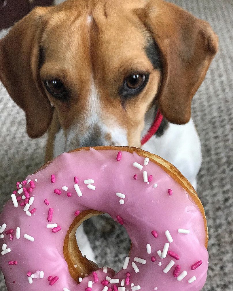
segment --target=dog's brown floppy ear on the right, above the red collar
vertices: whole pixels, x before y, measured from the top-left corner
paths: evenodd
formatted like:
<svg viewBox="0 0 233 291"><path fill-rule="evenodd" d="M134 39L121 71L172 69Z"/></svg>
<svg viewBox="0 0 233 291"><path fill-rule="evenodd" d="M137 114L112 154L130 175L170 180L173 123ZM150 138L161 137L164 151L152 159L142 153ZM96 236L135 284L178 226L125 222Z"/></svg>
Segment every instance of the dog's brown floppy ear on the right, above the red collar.
<svg viewBox="0 0 233 291"><path fill-rule="evenodd" d="M149 0L137 15L161 53L160 111L172 123L187 123L192 98L218 51L218 37L207 22L162 0Z"/></svg>

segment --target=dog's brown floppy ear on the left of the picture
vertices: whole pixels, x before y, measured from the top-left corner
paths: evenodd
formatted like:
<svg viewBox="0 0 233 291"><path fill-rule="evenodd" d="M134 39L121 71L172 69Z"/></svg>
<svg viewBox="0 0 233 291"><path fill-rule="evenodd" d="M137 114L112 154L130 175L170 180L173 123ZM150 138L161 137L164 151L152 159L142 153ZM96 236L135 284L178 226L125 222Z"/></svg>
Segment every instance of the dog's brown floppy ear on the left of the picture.
<svg viewBox="0 0 233 291"><path fill-rule="evenodd" d="M52 107L38 74L42 19L47 9L34 9L0 40L0 80L25 111L30 137L41 136L52 120Z"/></svg>

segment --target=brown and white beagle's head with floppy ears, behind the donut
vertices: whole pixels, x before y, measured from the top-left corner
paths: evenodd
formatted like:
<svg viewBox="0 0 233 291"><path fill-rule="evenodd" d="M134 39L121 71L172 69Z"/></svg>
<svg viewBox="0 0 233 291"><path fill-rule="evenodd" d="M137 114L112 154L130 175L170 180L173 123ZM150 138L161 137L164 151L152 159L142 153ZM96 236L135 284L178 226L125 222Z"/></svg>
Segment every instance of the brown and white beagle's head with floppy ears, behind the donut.
<svg viewBox="0 0 233 291"><path fill-rule="evenodd" d="M172 123L191 100L218 38L209 24L162 0L68 0L36 8L0 41L0 79L42 135L52 106L75 146L140 146L155 102Z"/></svg>

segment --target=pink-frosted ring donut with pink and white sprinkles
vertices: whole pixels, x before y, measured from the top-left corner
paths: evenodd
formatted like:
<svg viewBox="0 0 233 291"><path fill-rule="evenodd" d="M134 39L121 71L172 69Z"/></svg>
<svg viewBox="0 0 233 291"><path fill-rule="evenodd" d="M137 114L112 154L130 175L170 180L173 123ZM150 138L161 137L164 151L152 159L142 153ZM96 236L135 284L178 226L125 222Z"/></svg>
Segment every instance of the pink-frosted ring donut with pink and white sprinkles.
<svg viewBox="0 0 233 291"><path fill-rule="evenodd" d="M204 208L170 163L131 147L63 153L17 182L0 215L8 291L201 290L208 269ZM108 213L131 239L122 269L82 256L80 224Z"/></svg>

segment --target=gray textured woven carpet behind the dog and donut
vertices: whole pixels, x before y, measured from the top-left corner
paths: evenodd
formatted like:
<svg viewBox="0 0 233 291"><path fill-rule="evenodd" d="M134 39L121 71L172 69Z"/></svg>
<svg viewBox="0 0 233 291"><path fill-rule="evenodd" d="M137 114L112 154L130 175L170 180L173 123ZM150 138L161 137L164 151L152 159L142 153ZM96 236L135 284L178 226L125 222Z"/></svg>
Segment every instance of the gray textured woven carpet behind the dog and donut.
<svg viewBox="0 0 233 291"><path fill-rule="evenodd" d="M220 51L193 100L193 118L203 154L198 194L206 210L210 235L209 272L203 290L230 291L233 290L233 3L232 0L173 2L209 21L219 36ZM0 37L4 33L0 32ZM24 114L1 84L0 114L2 205L14 189L14 183L43 164L46 134L40 139L28 138ZM99 232L99 237L91 223L86 223L85 228L90 232L99 264L119 269L129 247L127 242L123 249L119 248L122 237L127 237L122 228L117 227L109 234ZM105 258L111 260L105 261ZM2 275L0 290L6 290Z"/></svg>

